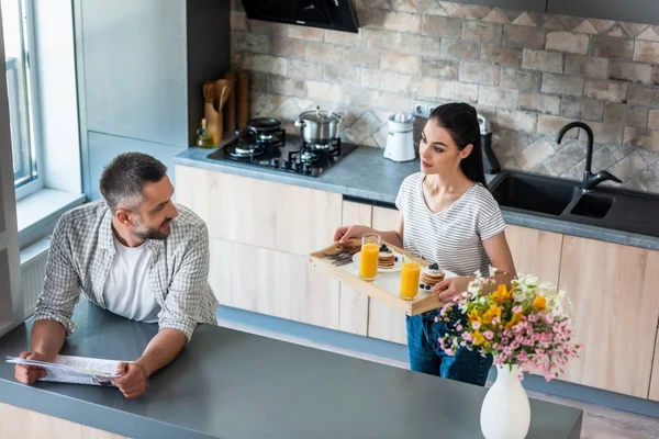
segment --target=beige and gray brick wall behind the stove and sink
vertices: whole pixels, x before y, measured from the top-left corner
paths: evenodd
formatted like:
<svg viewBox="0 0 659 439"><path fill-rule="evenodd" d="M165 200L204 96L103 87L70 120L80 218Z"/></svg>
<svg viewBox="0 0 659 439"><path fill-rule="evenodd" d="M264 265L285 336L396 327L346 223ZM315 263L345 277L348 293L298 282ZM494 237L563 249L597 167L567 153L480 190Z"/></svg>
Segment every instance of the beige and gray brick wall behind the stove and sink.
<svg viewBox="0 0 659 439"><path fill-rule="evenodd" d="M593 170L659 192L659 26L433 0L356 0L359 34L249 21L233 0L235 69L252 72L252 114L321 105L343 137L384 147L387 117L415 99L466 101L490 117L509 169L580 179L585 137L554 144L581 120Z"/></svg>

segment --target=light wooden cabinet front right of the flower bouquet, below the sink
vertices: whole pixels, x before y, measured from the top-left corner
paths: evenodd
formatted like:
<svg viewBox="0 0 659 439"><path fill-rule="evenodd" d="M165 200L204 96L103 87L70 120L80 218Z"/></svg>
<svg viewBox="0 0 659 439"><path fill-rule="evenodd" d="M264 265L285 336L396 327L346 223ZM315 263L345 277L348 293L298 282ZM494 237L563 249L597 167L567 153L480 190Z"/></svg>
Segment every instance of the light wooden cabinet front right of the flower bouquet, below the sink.
<svg viewBox="0 0 659 439"><path fill-rule="evenodd" d="M581 358L565 380L648 397L659 318L659 252L563 237L560 288L572 301Z"/></svg>

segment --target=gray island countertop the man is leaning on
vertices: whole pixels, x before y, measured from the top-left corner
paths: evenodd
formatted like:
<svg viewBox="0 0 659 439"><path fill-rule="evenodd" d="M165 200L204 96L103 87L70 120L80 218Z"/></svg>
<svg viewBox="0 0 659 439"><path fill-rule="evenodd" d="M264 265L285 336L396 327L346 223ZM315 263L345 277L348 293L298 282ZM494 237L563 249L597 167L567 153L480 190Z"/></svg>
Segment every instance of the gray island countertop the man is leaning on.
<svg viewBox="0 0 659 439"><path fill-rule="evenodd" d="M63 353L131 360L156 325L82 301ZM0 338L0 358L27 349L31 323ZM124 399L111 387L14 381L0 401L134 438L478 438L482 387L212 325ZM528 438L579 438L582 412L532 399Z"/></svg>

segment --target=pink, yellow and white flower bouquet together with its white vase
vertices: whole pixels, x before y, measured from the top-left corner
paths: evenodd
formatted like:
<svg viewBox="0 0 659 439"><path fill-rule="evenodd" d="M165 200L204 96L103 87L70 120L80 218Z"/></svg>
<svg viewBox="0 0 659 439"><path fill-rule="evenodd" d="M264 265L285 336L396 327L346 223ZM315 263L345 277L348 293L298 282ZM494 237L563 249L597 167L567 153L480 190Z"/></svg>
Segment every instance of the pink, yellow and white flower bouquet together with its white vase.
<svg viewBox="0 0 659 439"><path fill-rule="evenodd" d="M462 348L494 358L496 382L481 408L481 429L488 439L524 438L530 409L520 382L523 372L539 372L549 381L565 373L562 368L582 348L572 342L565 291L530 274L518 275L511 284L495 289L491 278L477 273L467 291L437 317L449 329L439 339L444 352L453 356Z"/></svg>

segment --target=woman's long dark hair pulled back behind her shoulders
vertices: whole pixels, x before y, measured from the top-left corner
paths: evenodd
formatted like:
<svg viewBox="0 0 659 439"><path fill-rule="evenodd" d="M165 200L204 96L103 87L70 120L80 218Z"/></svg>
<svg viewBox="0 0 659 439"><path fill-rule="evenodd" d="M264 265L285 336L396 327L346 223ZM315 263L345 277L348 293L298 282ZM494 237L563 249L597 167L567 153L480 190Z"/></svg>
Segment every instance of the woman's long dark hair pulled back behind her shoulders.
<svg viewBox="0 0 659 439"><path fill-rule="evenodd" d="M458 149L473 145L471 154L460 161L460 169L469 180L487 188L476 109L468 103L447 103L433 110L428 120L448 131Z"/></svg>

